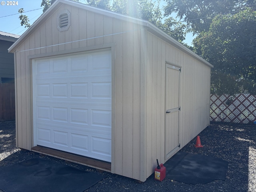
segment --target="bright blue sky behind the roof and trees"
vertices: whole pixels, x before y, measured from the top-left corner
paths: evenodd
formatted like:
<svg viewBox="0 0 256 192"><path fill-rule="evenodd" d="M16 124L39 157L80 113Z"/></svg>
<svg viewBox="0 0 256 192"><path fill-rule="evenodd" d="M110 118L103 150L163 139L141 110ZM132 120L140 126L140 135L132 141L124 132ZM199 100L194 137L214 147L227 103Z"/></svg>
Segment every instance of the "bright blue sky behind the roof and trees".
<svg viewBox="0 0 256 192"><path fill-rule="evenodd" d="M20 8L24 8L23 14L28 16L30 24L33 24L43 13L42 0L0 0L0 2L0 31L2 32L22 35L28 29L20 25L20 14L18 13ZM193 38L192 34L188 34L184 42L192 45Z"/></svg>

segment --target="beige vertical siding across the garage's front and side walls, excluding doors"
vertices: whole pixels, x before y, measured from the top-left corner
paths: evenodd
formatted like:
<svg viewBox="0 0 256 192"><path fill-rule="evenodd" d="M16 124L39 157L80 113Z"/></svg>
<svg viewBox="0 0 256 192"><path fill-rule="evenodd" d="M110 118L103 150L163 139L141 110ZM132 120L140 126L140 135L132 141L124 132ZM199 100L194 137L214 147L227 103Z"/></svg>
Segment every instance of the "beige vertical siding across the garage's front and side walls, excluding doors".
<svg viewBox="0 0 256 192"><path fill-rule="evenodd" d="M64 9L71 13L71 25L59 32L57 16ZM27 150L33 146L31 58L106 47L114 53L112 172L145 181L156 159L167 160L166 62L182 68L181 147L209 124L210 68L129 20L63 4L38 24L15 53L17 145Z"/></svg>

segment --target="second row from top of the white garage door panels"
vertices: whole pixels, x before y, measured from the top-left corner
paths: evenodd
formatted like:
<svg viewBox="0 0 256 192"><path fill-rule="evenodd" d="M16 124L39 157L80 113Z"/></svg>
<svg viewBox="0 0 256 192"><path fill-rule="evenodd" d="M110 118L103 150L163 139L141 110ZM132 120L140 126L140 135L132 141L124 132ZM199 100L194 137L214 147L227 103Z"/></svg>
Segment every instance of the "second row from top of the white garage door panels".
<svg viewBox="0 0 256 192"><path fill-rule="evenodd" d="M51 80L50 83L45 83L47 80L38 80L36 85L38 101L42 98L43 101L48 98L50 100L65 101L72 98L84 99L85 101L93 102L93 99L100 99L100 102L110 102L112 98L111 93L111 79L102 78L97 81L94 79L83 80L80 79L68 82L67 80ZM88 100L89 99L89 100ZM108 100L105 100L108 99Z"/></svg>

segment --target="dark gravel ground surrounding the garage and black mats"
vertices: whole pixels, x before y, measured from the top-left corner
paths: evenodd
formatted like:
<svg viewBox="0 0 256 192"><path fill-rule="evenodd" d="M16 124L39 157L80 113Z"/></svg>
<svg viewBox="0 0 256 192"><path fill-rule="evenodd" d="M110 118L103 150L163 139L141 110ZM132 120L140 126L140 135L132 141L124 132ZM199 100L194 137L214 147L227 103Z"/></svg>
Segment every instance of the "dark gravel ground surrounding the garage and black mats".
<svg viewBox="0 0 256 192"><path fill-rule="evenodd" d="M203 148L195 148L196 137L181 151L222 158L229 163L226 180L208 184L185 184L165 178L154 180L153 174L146 182L103 172L105 179L85 192L256 192L256 125L211 123L200 134ZM0 166L9 166L30 158L40 157L68 164L80 170L96 172L95 169L68 163L50 156L16 148L15 121L0 122ZM0 190L1 192L1 190Z"/></svg>

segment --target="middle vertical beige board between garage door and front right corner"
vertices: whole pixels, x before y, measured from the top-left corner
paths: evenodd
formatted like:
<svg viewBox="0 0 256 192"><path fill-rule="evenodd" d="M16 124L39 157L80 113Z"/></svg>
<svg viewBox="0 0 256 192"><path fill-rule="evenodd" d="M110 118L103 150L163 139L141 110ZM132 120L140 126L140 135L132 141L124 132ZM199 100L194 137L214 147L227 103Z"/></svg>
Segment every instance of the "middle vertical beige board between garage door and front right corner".
<svg viewBox="0 0 256 192"><path fill-rule="evenodd" d="M131 29L129 25L123 25L123 31ZM132 33L124 33L122 38L123 44L123 175L132 178L132 149L133 149L133 40Z"/></svg>

